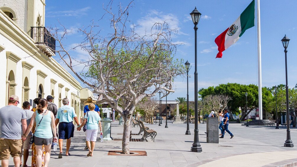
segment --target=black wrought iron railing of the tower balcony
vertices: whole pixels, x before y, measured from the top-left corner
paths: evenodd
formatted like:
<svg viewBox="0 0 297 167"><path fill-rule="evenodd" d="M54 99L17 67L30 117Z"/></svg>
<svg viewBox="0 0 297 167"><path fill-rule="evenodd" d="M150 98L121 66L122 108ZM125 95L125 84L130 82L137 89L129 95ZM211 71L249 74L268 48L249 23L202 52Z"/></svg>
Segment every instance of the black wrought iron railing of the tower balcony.
<svg viewBox="0 0 297 167"><path fill-rule="evenodd" d="M56 40L45 27L31 27L31 38L36 44L44 44L55 54Z"/></svg>

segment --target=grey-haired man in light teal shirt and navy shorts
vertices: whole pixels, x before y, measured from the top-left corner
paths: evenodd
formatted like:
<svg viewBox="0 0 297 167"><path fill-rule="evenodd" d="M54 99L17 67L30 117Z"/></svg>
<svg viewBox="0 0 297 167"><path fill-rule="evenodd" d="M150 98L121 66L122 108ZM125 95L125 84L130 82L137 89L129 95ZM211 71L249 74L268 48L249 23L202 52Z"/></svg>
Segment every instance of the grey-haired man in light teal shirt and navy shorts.
<svg viewBox="0 0 297 167"><path fill-rule="evenodd" d="M71 137L73 137L73 133L74 133L74 125L72 123L73 119L79 127L78 119L75 114L74 108L68 105L69 99L63 98L62 103L64 104L64 106L58 109L57 117L56 117L56 126L59 123L59 148L60 148L59 158L62 158L63 139L67 139L66 156L70 155L69 148L71 144Z"/></svg>

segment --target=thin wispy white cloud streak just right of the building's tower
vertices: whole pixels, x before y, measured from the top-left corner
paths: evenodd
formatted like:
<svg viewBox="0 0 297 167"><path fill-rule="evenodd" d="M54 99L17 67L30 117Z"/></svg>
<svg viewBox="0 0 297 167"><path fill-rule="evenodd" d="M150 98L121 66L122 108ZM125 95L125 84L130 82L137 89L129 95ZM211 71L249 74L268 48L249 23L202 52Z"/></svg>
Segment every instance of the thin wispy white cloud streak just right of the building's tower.
<svg viewBox="0 0 297 167"><path fill-rule="evenodd" d="M47 11L46 17L48 18L56 18L59 16L63 17L69 17L69 16L81 16L81 15L87 15L90 7L84 7L81 9L76 10L64 10L64 11Z"/></svg>

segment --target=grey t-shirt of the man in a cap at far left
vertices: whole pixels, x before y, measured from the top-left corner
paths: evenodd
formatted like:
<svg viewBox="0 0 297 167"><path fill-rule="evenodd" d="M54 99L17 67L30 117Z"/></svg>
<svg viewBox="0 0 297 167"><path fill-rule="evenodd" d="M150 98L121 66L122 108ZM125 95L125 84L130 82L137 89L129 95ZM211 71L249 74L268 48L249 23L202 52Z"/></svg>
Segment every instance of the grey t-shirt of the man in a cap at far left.
<svg viewBox="0 0 297 167"><path fill-rule="evenodd" d="M23 109L9 105L0 109L0 138L21 139L21 120L26 119Z"/></svg>

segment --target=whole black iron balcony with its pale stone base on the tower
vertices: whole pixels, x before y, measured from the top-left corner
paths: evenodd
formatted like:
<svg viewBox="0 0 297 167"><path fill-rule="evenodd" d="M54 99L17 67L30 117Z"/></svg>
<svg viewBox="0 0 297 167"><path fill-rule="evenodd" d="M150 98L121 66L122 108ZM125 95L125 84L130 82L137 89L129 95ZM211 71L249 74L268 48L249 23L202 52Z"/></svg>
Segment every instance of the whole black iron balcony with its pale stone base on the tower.
<svg viewBox="0 0 297 167"><path fill-rule="evenodd" d="M45 27L31 27L31 38L49 57L55 55L56 40Z"/></svg>

